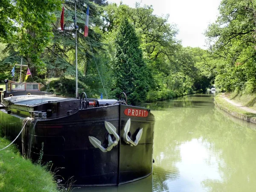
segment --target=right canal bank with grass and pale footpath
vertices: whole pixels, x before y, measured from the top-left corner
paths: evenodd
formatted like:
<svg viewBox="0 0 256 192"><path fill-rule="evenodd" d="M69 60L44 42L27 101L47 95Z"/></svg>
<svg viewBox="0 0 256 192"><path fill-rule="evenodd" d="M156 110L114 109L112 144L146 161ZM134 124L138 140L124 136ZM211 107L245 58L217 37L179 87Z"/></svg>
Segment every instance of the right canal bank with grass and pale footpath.
<svg viewBox="0 0 256 192"><path fill-rule="evenodd" d="M255 98L253 95L219 93L215 96L215 105L239 119L256 124Z"/></svg>

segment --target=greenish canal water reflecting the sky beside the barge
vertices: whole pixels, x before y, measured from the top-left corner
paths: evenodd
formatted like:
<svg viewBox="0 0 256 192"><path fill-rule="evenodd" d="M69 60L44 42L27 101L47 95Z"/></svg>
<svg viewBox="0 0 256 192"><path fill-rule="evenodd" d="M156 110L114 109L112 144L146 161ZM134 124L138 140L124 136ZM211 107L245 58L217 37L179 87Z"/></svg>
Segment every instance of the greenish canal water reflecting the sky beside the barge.
<svg viewBox="0 0 256 192"><path fill-rule="evenodd" d="M145 104L156 119L153 174L73 192L255 192L256 126L216 108L214 96Z"/></svg>

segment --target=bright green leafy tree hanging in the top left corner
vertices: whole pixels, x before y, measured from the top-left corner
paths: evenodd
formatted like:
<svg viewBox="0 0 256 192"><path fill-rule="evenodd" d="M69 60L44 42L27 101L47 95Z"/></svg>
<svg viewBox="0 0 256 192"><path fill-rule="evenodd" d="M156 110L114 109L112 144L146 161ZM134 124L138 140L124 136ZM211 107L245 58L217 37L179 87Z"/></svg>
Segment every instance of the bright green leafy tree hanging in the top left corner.
<svg viewBox="0 0 256 192"><path fill-rule="evenodd" d="M1 22L7 23L6 27L1 28L1 41L9 44L6 51L9 51L10 58L20 61L23 56L32 76L40 73L44 66L41 54L53 35L52 22L55 17L52 12L60 9L60 5L61 0L4 0L1 4ZM4 25L1 22L0 26Z"/></svg>

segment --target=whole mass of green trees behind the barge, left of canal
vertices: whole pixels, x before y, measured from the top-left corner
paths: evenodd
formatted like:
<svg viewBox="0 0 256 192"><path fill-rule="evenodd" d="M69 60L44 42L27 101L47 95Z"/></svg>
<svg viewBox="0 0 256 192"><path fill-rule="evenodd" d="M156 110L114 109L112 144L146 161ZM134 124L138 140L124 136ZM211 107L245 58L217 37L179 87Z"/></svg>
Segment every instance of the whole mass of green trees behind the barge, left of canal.
<svg viewBox="0 0 256 192"><path fill-rule="evenodd" d="M28 81L48 84L55 93L74 95L74 1L3 1L0 5L0 81L11 79L15 64L28 64ZM60 28L61 3L65 27ZM89 37L83 37L89 6ZM116 97L129 103L169 99L205 90L214 83L217 59L210 51L182 47L169 16L152 6L135 8L105 0L77 2L79 92ZM6 22L3 22L6 20ZM1 27L4 26L4 27ZM23 78L26 67L23 67ZM18 71L18 70L17 70ZM13 80L18 79L15 73Z"/></svg>

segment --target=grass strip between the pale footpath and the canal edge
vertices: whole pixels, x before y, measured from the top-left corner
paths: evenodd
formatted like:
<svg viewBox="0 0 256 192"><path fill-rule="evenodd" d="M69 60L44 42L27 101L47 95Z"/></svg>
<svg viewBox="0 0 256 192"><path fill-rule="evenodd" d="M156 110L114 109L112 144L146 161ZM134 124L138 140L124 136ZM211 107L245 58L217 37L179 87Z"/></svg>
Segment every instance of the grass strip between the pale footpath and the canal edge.
<svg viewBox="0 0 256 192"><path fill-rule="evenodd" d="M230 93L229 95L232 95L232 93ZM218 108L226 111L227 113L230 113L232 116L248 122L256 123L255 113L244 111L243 109L232 105L231 103L227 102L220 94L215 96L214 102Z"/></svg>

